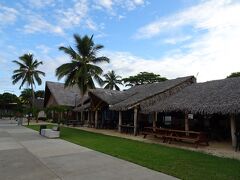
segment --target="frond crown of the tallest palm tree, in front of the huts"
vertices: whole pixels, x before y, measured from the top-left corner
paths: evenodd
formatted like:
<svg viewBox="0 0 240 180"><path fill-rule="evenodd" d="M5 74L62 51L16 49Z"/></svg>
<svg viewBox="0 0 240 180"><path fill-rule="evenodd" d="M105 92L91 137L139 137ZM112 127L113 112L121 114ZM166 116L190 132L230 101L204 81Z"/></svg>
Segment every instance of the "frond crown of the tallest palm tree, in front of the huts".
<svg viewBox="0 0 240 180"><path fill-rule="evenodd" d="M65 63L56 69L56 76L58 79L65 77L65 87L78 85L81 97L88 89L94 89L94 81L102 84L100 75L103 70L97 66L98 63L108 62L109 59L105 56L97 57L97 53L104 46L94 44L93 35L88 37L74 34L76 42L75 50L71 47L59 47L59 50L65 52L70 56L71 62Z"/></svg>

